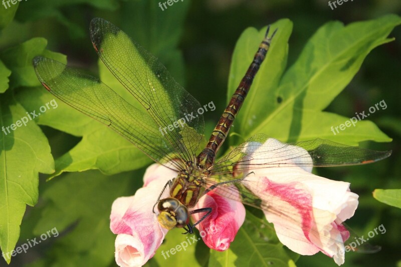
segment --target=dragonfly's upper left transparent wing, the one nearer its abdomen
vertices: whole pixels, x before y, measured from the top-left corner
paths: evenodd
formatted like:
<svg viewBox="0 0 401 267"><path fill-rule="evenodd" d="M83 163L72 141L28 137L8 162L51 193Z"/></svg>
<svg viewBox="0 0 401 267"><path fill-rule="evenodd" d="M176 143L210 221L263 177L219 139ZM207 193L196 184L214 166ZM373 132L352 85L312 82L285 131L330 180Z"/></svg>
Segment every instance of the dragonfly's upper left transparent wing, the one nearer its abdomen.
<svg viewBox="0 0 401 267"><path fill-rule="evenodd" d="M174 81L157 58L110 22L93 19L90 35L111 73L146 109L181 158L193 161L204 133L196 99Z"/></svg>

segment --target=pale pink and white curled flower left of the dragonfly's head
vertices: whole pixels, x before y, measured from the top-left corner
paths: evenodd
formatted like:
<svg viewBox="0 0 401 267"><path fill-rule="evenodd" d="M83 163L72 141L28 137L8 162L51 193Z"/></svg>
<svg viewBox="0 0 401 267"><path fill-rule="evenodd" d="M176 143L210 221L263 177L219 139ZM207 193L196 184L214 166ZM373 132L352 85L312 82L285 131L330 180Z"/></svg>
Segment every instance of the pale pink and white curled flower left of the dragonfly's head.
<svg viewBox="0 0 401 267"><path fill-rule="evenodd" d="M163 186L171 179L170 170L154 165L146 172L151 178L145 187L138 189L134 196L117 198L112 205L110 229L118 234L115 257L119 266L143 265L154 255L167 233L152 208Z"/></svg>

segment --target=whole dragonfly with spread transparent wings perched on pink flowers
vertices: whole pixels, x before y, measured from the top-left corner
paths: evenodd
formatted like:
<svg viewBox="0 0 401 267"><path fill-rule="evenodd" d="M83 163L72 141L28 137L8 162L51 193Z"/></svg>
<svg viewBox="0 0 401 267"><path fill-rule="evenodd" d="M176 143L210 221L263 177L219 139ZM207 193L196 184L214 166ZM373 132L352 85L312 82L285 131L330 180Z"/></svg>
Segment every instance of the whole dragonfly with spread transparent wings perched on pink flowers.
<svg viewBox="0 0 401 267"><path fill-rule="evenodd" d="M162 227L182 227L184 233L193 233L193 227L207 218L212 208L189 211L190 208L216 188L225 197L301 224L299 214L283 210L250 190L244 183L249 175L245 172L269 167L365 164L384 159L391 151L367 150L322 139L287 144L258 134L217 160L216 155L274 40L277 29L270 36L269 29L270 26L204 148L200 147L204 118L196 114L202 108L199 102L175 82L157 58L106 20L95 18L90 23L93 47L109 71L136 99L136 104L127 102L99 79L60 62L36 57L33 65L43 87L54 96L105 124L152 160L178 173L165 184L155 204ZM255 144L268 139L275 140L276 146L262 147L255 153ZM303 148L305 153L296 148ZM276 150L284 152L284 156L275 155ZM258 160L252 161L254 158ZM235 189L230 185L235 185ZM190 215L200 212L203 217L191 224Z"/></svg>

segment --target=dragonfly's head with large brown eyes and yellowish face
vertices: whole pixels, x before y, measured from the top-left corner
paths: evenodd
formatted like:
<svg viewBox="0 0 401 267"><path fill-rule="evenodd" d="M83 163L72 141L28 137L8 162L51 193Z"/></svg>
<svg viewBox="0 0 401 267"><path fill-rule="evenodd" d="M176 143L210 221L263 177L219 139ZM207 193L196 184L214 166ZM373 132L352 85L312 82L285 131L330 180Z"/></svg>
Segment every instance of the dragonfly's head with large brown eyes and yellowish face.
<svg viewBox="0 0 401 267"><path fill-rule="evenodd" d="M161 199L157 204L157 209L159 210L157 220L166 229L184 227L189 223L188 209L175 198Z"/></svg>

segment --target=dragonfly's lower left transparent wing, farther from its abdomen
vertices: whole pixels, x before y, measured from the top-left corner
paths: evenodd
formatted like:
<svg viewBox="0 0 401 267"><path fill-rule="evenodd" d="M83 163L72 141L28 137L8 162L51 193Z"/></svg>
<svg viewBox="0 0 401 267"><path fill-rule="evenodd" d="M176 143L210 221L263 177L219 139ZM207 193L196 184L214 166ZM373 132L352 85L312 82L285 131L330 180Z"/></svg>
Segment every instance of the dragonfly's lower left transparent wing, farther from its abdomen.
<svg viewBox="0 0 401 267"><path fill-rule="evenodd" d="M107 125L154 161L163 164L172 160L176 170L182 169L183 163L173 160L179 158L175 147L160 134L154 120L127 103L107 85L48 58L36 57L34 68L42 85L54 96Z"/></svg>

